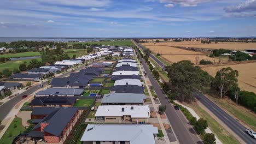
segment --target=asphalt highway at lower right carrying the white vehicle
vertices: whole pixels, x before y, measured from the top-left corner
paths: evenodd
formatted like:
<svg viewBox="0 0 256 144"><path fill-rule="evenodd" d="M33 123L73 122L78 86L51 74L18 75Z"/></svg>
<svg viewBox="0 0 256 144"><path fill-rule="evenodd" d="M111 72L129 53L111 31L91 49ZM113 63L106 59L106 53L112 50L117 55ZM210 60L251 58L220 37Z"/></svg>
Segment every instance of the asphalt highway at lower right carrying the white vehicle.
<svg viewBox="0 0 256 144"><path fill-rule="evenodd" d="M235 118L233 118L219 106L214 104L205 95L200 93L195 93L194 95L203 105L207 107L208 110L214 113L214 115L216 115L220 119L220 121L225 123L243 141L245 141L246 143L256 143L256 139L253 139L245 132L246 127L239 123Z"/></svg>

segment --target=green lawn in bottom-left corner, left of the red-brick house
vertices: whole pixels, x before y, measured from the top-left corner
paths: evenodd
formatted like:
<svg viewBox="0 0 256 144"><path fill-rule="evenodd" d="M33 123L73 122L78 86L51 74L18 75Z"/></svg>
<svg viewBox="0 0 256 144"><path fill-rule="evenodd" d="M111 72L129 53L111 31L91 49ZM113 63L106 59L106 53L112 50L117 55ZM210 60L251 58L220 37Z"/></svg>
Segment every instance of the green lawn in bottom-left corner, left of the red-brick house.
<svg viewBox="0 0 256 144"><path fill-rule="evenodd" d="M10 126L8 127L7 131L5 131L3 137L0 140L1 144L11 143L13 142L13 138L20 134L20 131L25 130L21 123L21 118L14 118L13 122L11 122Z"/></svg>

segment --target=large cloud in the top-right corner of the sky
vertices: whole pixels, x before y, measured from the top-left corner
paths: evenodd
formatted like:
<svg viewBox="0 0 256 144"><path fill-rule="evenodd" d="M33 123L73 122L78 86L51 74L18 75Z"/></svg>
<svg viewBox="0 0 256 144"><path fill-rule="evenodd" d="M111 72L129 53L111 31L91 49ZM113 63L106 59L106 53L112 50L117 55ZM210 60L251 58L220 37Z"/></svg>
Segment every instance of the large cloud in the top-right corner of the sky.
<svg viewBox="0 0 256 144"><path fill-rule="evenodd" d="M247 0L238 5L232 5L229 7L225 7L224 10L227 13L242 12L242 11L256 11L256 0Z"/></svg>

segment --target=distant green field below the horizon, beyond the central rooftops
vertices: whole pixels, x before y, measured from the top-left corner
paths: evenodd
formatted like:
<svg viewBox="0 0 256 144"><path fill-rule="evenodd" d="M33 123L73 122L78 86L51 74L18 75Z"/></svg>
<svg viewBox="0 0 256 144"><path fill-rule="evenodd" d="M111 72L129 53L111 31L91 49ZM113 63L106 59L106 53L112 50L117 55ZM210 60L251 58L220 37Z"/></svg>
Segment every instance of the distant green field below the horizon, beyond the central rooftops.
<svg viewBox="0 0 256 144"><path fill-rule="evenodd" d="M93 41L93 42L70 42L68 45L72 44L101 44L101 45L112 45L112 46L132 46L134 45L131 40L115 40L115 41Z"/></svg>

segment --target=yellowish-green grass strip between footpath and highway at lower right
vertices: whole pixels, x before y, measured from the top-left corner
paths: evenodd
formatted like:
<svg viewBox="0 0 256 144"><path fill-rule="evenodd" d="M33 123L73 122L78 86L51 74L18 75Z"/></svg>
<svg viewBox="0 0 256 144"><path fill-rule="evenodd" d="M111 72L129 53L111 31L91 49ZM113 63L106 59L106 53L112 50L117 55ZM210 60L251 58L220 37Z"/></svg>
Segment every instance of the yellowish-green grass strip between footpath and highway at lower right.
<svg viewBox="0 0 256 144"><path fill-rule="evenodd" d="M212 130L213 134L218 137L218 139L223 144L234 144L239 143L234 136L229 135L228 131L226 131L222 125L220 125L214 118L209 115L205 110L203 110L197 104L186 104L191 107L200 118L206 119L208 122L208 127Z"/></svg>

